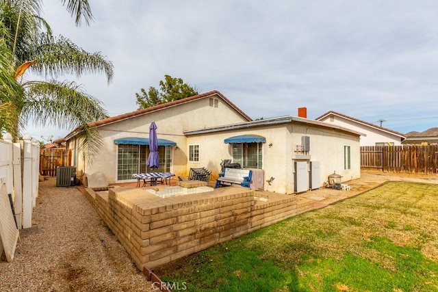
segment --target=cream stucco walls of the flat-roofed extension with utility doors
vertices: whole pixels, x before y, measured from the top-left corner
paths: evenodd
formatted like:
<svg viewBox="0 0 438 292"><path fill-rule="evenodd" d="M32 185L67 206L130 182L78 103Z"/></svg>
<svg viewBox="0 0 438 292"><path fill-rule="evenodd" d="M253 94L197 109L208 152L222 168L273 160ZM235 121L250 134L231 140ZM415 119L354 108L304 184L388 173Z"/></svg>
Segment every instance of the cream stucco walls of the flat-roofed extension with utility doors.
<svg viewBox="0 0 438 292"><path fill-rule="evenodd" d="M294 162L302 161L295 152L295 145L301 144L301 137L310 137L309 161L320 162L320 186L329 174L336 171L343 176L342 181L360 177L359 136L345 131L293 122L276 124L257 129L236 129L218 133L205 133L188 136L188 144L199 144L200 161L188 167L205 167L211 170L214 178L220 172L221 159L231 159L231 146L224 140L235 135L261 135L266 138L263 144L263 170L265 179L274 178L271 185L264 184L264 190L281 194L294 193ZM269 144L272 146L269 147ZM351 169L344 170L344 145L350 146ZM298 155L297 155L298 154Z"/></svg>

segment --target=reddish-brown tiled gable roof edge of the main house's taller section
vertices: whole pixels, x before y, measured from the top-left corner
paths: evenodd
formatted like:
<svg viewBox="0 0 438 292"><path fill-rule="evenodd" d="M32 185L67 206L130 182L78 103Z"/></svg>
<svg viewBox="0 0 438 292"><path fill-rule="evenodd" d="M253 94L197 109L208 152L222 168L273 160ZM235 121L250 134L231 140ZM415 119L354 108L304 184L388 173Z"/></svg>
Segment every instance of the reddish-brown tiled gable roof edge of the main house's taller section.
<svg viewBox="0 0 438 292"><path fill-rule="evenodd" d="M159 104L159 105L155 105L153 107L147 107L146 109L138 109L136 111L131 111L131 112L127 113L127 114L121 114L121 115L114 116L114 117L111 117L111 118L105 118L103 120L98 120L96 122L91 122L88 125L90 127L100 127L100 126L103 126L105 124L111 124L113 122L118 122L118 121L121 121L121 120L126 120L126 119L137 117L137 116L142 116L144 114L149 114L149 113L151 113L153 111L160 111L162 109L168 109L170 107L176 107L177 105L182 105L184 103L190 103L192 101L197 101L197 100L202 99L202 98L209 98L211 96L220 96L220 98L222 98L222 100L225 103L227 103L230 107L235 109L235 111L237 111L244 118L246 118L246 120L248 120L248 121L253 120L247 114L245 114L244 111L242 111L242 109L238 108L234 103L231 103L231 101L229 101L228 98L226 98L223 94L218 92L218 90L213 90L213 91L210 91L210 92L205 92L203 94L198 94L198 95L194 95L194 96L190 96L190 97L186 97L186 98L181 98L181 99L179 99L177 101L170 101L168 103L162 103L162 104ZM68 133L68 135L66 135L65 139L69 139L70 137L73 137L74 135L79 133L81 131L81 129L82 129L82 127L77 127L75 130L73 130L70 133Z"/></svg>

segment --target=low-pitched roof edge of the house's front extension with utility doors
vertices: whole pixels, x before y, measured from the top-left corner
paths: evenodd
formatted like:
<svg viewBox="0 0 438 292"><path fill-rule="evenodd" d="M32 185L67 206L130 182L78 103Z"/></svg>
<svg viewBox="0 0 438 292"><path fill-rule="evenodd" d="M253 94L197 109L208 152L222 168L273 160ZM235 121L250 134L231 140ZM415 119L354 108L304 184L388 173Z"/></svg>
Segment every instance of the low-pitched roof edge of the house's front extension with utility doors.
<svg viewBox="0 0 438 292"><path fill-rule="evenodd" d="M220 132L220 131L248 129L248 128L253 128L253 127L266 127L266 126L270 126L272 124L286 124L289 122L303 122L306 124L313 124L315 126L320 126L320 127L324 127L324 128L331 128L331 129L346 131L348 133L352 133L355 135L363 135L362 133L359 133L357 131L352 131L350 129L346 129L344 127L340 127L336 124L328 124L326 122L319 122L316 120L309 120L307 118L299 118L299 117L295 117L295 116L280 116L280 117L276 117L276 118L267 118L267 119L263 119L263 120L253 120L250 122L240 122L238 124L229 124L229 125L225 125L225 126L210 127L210 128L198 129L198 130L192 130L192 131L184 131L184 135L197 135L197 134L203 134L203 133L214 133L214 132Z"/></svg>

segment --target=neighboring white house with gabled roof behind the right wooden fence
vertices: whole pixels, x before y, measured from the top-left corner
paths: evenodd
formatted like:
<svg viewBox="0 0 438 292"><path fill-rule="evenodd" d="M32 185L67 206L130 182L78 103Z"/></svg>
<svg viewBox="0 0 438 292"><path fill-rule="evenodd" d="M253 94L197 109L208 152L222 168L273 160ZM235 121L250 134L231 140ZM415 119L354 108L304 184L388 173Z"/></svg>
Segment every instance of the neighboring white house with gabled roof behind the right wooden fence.
<svg viewBox="0 0 438 292"><path fill-rule="evenodd" d="M361 146L400 146L406 138L402 133L339 114L336 111L327 111L315 120L362 133Z"/></svg>

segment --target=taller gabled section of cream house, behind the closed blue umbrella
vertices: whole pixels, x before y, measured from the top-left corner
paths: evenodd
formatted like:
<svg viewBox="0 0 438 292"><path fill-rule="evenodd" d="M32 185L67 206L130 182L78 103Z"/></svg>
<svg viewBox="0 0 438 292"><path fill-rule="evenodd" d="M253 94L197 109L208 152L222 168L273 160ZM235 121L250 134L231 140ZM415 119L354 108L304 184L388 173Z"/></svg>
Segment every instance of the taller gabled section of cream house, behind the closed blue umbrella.
<svg viewBox="0 0 438 292"><path fill-rule="evenodd" d="M66 137L66 146L72 150L73 166L83 174L102 172L108 183L132 180L132 174L149 172L149 126L157 124L160 167L155 172L184 174L188 157L196 149L187 146L183 131L212 127L220 122L248 122L251 120L220 92L198 94L178 101L155 105L93 122L103 142L103 148L92 163L83 158L79 149L80 128Z"/></svg>

